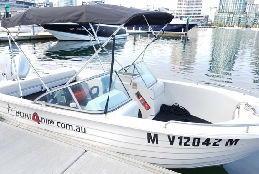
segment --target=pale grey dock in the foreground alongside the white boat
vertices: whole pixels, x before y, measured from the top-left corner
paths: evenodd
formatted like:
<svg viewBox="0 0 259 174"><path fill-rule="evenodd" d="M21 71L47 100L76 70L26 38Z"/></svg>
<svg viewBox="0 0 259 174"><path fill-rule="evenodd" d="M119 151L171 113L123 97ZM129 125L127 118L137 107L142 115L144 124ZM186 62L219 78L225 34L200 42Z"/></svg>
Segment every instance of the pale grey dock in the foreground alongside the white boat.
<svg viewBox="0 0 259 174"><path fill-rule="evenodd" d="M1 173L177 173L1 117L0 131Z"/></svg>

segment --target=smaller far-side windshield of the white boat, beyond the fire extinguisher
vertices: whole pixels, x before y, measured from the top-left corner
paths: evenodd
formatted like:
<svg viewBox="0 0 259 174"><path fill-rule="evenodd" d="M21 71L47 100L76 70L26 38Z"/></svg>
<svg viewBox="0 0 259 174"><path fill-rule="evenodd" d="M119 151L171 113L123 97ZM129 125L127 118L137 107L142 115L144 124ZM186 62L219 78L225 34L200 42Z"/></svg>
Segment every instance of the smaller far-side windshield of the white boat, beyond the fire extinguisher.
<svg viewBox="0 0 259 174"><path fill-rule="evenodd" d="M126 66L125 68L127 69L128 67L129 66ZM119 70L119 73L124 73L124 72L125 72L124 68ZM131 65L125 74L133 75L133 76L140 75L147 88L150 88L152 85L154 85L157 82L157 79L155 78L155 76L152 74L150 69L143 61L140 61Z"/></svg>

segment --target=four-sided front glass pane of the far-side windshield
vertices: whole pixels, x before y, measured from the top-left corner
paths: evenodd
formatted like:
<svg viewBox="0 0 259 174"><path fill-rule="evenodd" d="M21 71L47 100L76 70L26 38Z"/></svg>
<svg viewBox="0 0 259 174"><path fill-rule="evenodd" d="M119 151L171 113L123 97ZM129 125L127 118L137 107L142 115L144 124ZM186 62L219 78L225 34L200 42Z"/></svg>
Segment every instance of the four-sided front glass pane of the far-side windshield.
<svg viewBox="0 0 259 174"><path fill-rule="evenodd" d="M136 67L137 71L139 72L142 80L145 82L147 88L152 86L157 81L155 76L147 68L147 65L144 62L136 63L135 67Z"/></svg>

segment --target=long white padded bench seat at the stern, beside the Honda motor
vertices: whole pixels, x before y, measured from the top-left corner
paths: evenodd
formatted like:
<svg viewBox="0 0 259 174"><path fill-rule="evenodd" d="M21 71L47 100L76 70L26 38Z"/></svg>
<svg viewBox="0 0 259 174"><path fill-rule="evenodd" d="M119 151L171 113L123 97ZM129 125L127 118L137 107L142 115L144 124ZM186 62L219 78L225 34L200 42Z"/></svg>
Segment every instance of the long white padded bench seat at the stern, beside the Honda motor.
<svg viewBox="0 0 259 174"><path fill-rule="evenodd" d="M40 74L40 76L48 88L53 88L67 83L74 74L75 70L72 68L60 68L59 70L49 70L47 73ZM26 77L24 80L20 80L20 83L23 96L45 90L36 75ZM0 83L0 93L20 97L17 81L8 80Z"/></svg>

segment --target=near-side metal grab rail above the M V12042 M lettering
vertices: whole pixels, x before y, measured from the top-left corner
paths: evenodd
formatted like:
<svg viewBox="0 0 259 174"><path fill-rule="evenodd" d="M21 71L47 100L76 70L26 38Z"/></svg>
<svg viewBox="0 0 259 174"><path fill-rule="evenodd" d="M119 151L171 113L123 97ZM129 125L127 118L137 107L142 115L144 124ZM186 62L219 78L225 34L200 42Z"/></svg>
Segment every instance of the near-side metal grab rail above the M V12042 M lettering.
<svg viewBox="0 0 259 174"><path fill-rule="evenodd" d="M227 126L227 127L245 127L246 126L246 132L249 133L248 129L249 126L259 126L259 123L254 123L254 124L207 124L207 123L192 123L192 122L180 122L180 121L168 121L165 123L164 128L167 128L167 125L170 123L180 123L180 124L191 124L191 125L200 125L200 126Z"/></svg>

